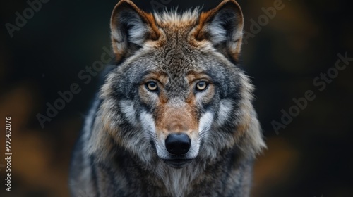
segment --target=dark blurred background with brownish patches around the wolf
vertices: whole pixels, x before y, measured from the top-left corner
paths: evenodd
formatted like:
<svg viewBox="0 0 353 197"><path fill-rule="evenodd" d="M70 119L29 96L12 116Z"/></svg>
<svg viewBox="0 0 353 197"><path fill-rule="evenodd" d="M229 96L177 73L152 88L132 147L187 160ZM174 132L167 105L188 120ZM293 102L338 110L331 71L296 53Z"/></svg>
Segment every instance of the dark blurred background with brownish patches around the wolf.
<svg viewBox="0 0 353 197"><path fill-rule="evenodd" d="M45 0L31 13L33 1L3 1L0 8L0 196L68 196L71 150L99 80L84 84L78 75L101 59L104 47L110 49L109 18L117 1ZM135 2L146 11L220 3ZM353 61L335 69L338 53L353 57L352 5L278 2L239 0L249 36L243 68L256 86L254 105L268 144L256 161L252 196L353 196ZM265 15L274 4L281 9ZM28 19L17 21L18 27L23 11ZM320 77L327 72L325 82ZM47 103L53 105L61 98L58 91L73 83L80 93L42 128L37 114L46 115ZM309 90L315 99L296 112L293 98ZM296 117L282 121L289 109ZM4 186L6 116L12 118L11 193ZM274 128L274 121L283 125Z"/></svg>

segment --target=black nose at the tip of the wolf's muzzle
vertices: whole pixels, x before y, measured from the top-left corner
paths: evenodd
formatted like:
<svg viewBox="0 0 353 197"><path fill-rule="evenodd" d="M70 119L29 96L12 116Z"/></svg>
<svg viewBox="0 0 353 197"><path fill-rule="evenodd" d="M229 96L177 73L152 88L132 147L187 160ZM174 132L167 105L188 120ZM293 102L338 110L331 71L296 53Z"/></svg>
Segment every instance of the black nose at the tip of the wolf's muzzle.
<svg viewBox="0 0 353 197"><path fill-rule="evenodd" d="M184 155L188 153L191 140L187 134L169 134L165 139L165 147L172 155Z"/></svg>

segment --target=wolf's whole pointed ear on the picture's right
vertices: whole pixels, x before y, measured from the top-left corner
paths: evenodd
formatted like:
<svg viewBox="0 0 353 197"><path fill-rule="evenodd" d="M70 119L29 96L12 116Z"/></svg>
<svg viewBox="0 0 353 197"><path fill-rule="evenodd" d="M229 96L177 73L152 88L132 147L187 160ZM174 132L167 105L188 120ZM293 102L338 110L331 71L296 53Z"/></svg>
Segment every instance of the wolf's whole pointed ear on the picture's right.
<svg viewBox="0 0 353 197"><path fill-rule="evenodd" d="M209 40L216 49L238 60L243 37L244 18L239 4L224 0L216 8L200 15L196 40Z"/></svg>

